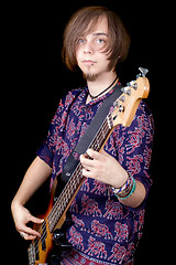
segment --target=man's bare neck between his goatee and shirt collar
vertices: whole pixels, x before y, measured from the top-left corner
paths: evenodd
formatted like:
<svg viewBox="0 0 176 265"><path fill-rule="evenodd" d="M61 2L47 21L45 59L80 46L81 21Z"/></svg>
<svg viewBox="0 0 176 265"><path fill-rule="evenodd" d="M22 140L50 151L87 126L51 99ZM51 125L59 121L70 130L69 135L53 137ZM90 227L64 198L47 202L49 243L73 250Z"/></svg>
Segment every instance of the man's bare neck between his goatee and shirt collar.
<svg viewBox="0 0 176 265"><path fill-rule="evenodd" d="M98 94L103 92L106 87L110 86L110 84L114 81L116 76L117 76L116 72L107 72L102 76L101 75L97 76L95 81L87 81L89 93L92 96L97 96ZM110 87L109 89L111 88L112 87ZM105 94L106 93L108 93L108 91L106 91ZM103 94L101 94L101 96Z"/></svg>

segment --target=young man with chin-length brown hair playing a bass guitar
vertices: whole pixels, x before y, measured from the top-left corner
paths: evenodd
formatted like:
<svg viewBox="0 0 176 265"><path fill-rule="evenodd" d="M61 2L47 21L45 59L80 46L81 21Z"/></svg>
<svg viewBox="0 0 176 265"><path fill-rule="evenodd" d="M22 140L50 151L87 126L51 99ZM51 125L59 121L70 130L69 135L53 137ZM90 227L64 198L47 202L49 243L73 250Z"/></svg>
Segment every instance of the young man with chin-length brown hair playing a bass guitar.
<svg viewBox="0 0 176 265"><path fill-rule="evenodd" d="M82 71L87 86L61 100L47 139L12 201L14 223L24 240L40 236L28 222L43 222L25 203L50 176L52 186L103 100L118 88L116 67L129 46L124 25L107 8L84 8L69 20L63 57L68 68ZM141 102L129 128L118 126L101 152L88 149L80 156L86 180L69 209L73 225L67 237L73 251L63 264L133 263L151 187L152 141L153 118Z"/></svg>

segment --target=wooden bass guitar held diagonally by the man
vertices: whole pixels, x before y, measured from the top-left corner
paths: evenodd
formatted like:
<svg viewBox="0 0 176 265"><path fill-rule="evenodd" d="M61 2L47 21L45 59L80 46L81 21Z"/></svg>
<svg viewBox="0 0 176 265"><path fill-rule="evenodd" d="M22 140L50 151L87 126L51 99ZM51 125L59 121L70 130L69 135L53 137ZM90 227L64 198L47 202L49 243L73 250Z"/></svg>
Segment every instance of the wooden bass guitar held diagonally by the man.
<svg viewBox="0 0 176 265"><path fill-rule="evenodd" d="M110 113L98 129L89 148L100 151L116 126L131 125L140 100L146 98L150 92L150 83L145 77L147 70L142 67L139 70L142 75L136 81L132 81L129 85L121 88L123 93L113 103ZM79 162L55 202L53 202L55 190L53 186L51 202L45 213L44 222L37 229L41 237L33 240L28 251L29 265L48 264L48 256L53 248L53 233L64 224L67 210L85 180L81 172L82 168Z"/></svg>

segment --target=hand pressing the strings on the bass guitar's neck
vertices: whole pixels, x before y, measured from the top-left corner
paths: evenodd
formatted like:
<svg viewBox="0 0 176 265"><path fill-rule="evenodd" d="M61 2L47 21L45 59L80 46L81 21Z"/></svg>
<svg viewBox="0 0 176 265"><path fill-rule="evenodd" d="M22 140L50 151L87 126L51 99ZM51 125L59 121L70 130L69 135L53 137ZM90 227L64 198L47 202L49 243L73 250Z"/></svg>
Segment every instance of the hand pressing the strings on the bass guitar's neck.
<svg viewBox="0 0 176 265"><path fill-rule="evenodd" d="M122 187L128 179L128 173L122 166L105 150L98 152L88 149L85 155L80 156L80 162L84 177L96 179L114 188Z"/></svg>

